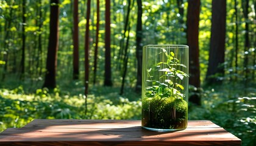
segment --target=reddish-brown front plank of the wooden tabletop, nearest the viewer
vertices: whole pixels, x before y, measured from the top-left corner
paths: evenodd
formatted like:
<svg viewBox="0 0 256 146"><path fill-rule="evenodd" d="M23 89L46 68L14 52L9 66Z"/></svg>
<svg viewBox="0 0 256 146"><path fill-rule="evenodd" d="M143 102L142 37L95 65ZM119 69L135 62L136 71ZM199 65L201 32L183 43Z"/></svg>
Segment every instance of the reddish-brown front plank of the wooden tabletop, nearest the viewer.
<svg viewBox="0 0 256 146"><path fill-rule="evenodd" d="M17 139L18 137L18 139ZM1 134L0 141L232 141L226 131L205 131L194 133L155 133L144 131L96 130L78 132L31 132L23 134Z"/></svg>

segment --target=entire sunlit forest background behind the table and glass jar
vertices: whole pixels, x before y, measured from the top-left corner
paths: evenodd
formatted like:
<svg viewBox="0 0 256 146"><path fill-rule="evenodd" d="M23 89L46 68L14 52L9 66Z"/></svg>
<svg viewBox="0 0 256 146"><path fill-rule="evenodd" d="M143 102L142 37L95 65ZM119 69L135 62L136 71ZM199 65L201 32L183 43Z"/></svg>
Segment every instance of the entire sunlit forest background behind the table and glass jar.
<svg viewBox="0 0 256 146"><path fill-rule="evenodd" d="M256 144L255 1L0 1L0 131L140 119L146 44L190 46L189 120Z"/></svg>

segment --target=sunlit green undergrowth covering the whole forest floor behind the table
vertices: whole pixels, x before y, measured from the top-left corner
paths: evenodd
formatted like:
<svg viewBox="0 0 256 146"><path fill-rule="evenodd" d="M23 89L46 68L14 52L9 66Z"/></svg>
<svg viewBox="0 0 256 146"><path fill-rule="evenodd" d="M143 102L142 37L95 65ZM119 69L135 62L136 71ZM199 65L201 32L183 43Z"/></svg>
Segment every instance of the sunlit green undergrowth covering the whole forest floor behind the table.
<svg viewBox="0 0 256 146"><path fill-rule="evenodd" d="M196 89L195 89L196 90ZM117 87L94 86L85 97L80 82L53 91L25 85L0 88L0 131L23 127L33 119L141 119L141 96L126 88L123 96ZM193 94L193 92L190 92ZM242 140L256 145L256 89L241 86L214 86L196 92L201 106L189 104L189 120L211 120ZM85 114L85 98L87 113Z"/></svg>

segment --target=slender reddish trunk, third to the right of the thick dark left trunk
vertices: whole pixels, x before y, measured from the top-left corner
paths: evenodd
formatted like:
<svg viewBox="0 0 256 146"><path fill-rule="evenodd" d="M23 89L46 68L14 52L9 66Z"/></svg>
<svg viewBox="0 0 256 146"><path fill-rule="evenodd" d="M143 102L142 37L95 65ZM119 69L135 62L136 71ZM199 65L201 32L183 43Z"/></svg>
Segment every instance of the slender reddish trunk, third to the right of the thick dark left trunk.
<svg viewBox="0 0 256 146"><path fill-rule="evenodd" d="M99 0L97 0L97 23L96 23L96 43L95 43L95 51L94 51L93 85L95 85L96 83L98 44L99 44Z"/></svg>

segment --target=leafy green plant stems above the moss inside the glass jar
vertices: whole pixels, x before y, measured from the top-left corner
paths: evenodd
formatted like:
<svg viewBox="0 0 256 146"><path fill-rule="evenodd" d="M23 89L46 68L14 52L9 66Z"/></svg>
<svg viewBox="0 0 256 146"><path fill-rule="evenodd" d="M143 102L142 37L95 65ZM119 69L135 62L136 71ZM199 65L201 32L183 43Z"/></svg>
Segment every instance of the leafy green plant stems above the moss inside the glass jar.
<svg viewBox="0 0 256 146"><path fill-rule="evenodd" d="M154 86L147 86L146 88L146 97L175 97L177 99L183 99L185 94L180 92L184 89L182 85L180 85L177 80L183 80L184 77L188 77L188 75L177 69L177 66L182 66L183 68L187 68L184 64L180 64L179 60L175 58L174 52L170 52L169 54L165 49L163 50L163 54L167 58L166 62L157 63L158 72L163 72L163 75L158 78L159 80L162 78L165 82L161 83L158 80L152 80L151 71L152 68L148 69L148 77L151 80L147 80L147 82L152 82ZM165 65L167 68L164 68ZM161 68L162 66L162 68ZM171 79L171 80L170 80Z"/></svg>

